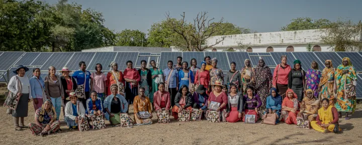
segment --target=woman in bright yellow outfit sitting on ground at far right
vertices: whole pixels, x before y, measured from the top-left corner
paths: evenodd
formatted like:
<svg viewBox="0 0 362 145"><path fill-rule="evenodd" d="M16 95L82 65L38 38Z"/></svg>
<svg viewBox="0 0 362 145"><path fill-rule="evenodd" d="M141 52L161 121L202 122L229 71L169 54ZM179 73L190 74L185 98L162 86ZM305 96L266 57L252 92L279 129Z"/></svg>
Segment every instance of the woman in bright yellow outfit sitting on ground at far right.
<svg viewBox="0 0 362 145"><path fill-rule="evenodd" d="M323 107L318 110L316 121L311 121L311 126L320 132L334 132L335 124L338 124L339 119L337 109L329 105L329 99L327 98L322 99L322 106ZM339 131L341 130L339 127L338 129Z"/></svg>

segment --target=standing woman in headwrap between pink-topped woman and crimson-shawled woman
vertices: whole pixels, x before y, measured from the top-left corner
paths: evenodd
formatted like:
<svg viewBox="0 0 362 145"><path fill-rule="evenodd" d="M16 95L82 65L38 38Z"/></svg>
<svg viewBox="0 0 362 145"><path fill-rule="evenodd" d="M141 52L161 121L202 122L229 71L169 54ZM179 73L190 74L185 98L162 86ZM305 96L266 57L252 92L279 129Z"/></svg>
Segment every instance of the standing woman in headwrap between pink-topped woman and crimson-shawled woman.
<svg viewBox="0 0 362 145"><path fill-rule="evenodd" d="M109 67L112 67L112 70L107 74L107 96L112 95L111 85L117 84L118 94L124 95L124 82L122 71L118 70L118 64L116 61L112 61Z"/></svg>

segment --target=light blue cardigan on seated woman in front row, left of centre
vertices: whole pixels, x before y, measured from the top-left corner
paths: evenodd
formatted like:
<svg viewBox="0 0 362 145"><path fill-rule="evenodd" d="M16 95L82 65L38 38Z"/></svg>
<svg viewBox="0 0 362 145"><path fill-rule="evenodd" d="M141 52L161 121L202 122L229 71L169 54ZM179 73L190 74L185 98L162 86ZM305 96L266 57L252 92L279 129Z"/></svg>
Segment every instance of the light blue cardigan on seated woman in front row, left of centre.
<svg viewBox="0 0 362 145"><path fill-rule="evenodd" d="M104 100L104 108L108 108L108 110L111 112L111 104L112 104L112 100L113 97L115 97L113 94L109 95L105 100ZM128 110L128 102L127 100L120 94L117 94L116 97L120 100L121 102L121 113L126 113ZM110 119L110 114L106 111L105 113L105 117L107 120Z"/></svg>

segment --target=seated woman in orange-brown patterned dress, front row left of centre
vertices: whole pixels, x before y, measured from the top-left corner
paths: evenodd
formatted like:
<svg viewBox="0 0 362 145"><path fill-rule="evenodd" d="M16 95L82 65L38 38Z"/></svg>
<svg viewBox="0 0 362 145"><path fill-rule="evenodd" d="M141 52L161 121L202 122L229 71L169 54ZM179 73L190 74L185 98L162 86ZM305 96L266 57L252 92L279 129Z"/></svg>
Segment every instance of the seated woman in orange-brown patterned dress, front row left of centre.
<svg viewBox="0 0 362 145"><path fill-rule="evenodd" d="M138 96L133 100L133 112L134 119L137 125L152 124L152 106L151 101L147 96L145 96L145 88L140 87ZM149 118L143 118L140 112L148 112L150 114Z"/></svg>

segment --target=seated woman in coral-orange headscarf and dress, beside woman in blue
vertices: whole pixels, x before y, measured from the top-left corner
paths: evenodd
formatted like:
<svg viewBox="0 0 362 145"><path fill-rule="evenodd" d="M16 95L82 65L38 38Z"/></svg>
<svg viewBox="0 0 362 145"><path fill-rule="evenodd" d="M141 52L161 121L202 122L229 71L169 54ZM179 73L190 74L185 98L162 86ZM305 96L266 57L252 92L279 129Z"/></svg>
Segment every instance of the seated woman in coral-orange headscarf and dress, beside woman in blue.
<svg viewBox="0 0 362 145"><path fill-rule="evenodd" d="M288 89L286 94L287 97L284 98L282 103L282 119L287 124L297 124L298 96L292 89Z"/></svg>

